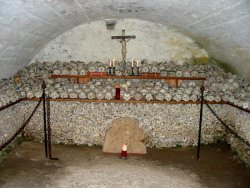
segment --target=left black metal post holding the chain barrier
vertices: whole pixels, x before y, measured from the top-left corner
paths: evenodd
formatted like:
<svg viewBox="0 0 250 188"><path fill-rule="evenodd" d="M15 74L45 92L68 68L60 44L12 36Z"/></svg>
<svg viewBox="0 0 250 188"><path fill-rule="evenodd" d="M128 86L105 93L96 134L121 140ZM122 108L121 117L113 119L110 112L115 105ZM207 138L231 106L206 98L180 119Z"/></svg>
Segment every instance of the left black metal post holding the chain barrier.
<svg viewBox="0 0 250 188"><path fill-rule="evenodd" d="M45 146L45 157L48 158L48 143L47 143L47 118L46 118L46 84L43 81L42 83L42 89L43 89L43 129L44 129L44 146Z"/></svg>

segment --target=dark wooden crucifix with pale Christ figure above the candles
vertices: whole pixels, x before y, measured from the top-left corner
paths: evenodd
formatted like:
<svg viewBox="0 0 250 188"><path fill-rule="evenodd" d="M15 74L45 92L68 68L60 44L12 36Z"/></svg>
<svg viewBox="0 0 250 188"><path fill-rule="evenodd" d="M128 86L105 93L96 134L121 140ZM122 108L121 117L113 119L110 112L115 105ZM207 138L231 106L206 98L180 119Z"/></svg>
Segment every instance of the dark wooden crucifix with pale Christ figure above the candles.
<svg viewBox="0 0 250 188"><path fill-rule="evenodd" d="M122 45L122 61L124 62L124 70L126 69L126 55L127 47L126 44L131 39L135 39L135 35L125 35L125 30L122 30L121 36L111 36L111 39L117 39Z"/></svg>

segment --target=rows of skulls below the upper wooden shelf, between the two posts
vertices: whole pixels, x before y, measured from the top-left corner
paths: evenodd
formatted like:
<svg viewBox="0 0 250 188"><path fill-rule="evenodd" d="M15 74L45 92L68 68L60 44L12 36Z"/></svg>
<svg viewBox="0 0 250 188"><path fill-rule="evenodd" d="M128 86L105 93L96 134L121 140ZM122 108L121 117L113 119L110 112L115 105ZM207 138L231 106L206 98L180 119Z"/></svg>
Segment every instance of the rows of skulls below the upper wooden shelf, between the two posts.
<svg viewBox="0 0 250 188"><path fill-rule="evenodd" d="M111 100L115 96L114 85L121 86L121 98L128 100L176 100L196 101L200 95L199 86L195 82L186 83L184 88L169 88L164 80L98 80L87 84L75 84L68 80L60 80L49 86L47 92L51 98L80 98Z"/></svg>

